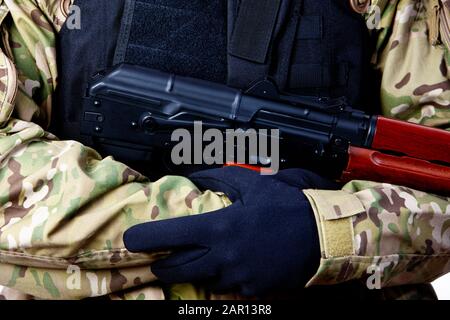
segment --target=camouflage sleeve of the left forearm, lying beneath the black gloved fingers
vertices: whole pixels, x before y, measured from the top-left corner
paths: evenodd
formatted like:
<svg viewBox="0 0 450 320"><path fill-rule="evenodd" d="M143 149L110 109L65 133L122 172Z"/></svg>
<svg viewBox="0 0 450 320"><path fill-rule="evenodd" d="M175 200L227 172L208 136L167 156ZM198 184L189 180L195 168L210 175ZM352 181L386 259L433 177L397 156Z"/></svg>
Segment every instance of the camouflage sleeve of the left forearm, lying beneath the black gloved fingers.
<svg viewBox="0 0 450 320"><path fill-rule="evenodd" d="M15 119L0 130L0 160L0 285L39 298L85 298L151 284L156 278L149 266L164 253L128 252L123 232L229 203L186 178L150 182L112 158Z"/></svg>

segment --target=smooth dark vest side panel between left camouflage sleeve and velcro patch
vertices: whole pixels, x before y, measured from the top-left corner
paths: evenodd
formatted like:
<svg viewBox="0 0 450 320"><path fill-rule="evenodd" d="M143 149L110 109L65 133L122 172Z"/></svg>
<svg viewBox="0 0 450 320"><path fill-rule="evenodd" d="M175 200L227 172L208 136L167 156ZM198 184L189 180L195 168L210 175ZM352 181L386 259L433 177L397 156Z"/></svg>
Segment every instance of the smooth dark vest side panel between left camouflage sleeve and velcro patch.
<svg viewBox="0 0 450 320"><path fill-rule="evenodd" d="M75 4L81 9L81 28L65 25L57 39L59 85L50 131L61 139L92 145L79 133L82 100L92 75L112 65L124 1L77 0Z"/></svg>

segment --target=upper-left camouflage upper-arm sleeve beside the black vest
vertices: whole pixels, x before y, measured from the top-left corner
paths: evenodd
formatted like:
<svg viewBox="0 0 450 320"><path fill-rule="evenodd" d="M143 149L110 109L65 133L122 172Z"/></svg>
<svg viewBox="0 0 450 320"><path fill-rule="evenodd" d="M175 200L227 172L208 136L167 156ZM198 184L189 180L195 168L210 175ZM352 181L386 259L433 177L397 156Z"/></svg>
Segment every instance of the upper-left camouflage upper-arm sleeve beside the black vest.
<svg viewBox="0 0 450 320"><path fill-rule="evenodd" d="M0 1L1 21L9 19L12 22L1 24L1 37L4 54L16 66L17 75L8 77L10 82L17 82L15 117L33 121L43 128L50 125L52 95L58 79L56 35L67 19L72 2ZM3 73L0 77L2 75L5 76ZM12 107L4 109L0 109L0 124L4 124L13 111Z"/></svg>

